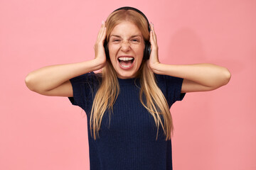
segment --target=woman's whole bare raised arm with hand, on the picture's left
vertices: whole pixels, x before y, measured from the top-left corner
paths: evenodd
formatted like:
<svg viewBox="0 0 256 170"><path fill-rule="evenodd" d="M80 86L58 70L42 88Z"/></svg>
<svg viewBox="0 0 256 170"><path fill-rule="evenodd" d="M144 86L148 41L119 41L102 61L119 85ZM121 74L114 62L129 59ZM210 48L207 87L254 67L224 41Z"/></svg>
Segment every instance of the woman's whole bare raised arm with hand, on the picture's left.
<svg viewBox="0 0 256 170"><path fill-rule="evenodd" d="M37 69L27 75L25 79L26 86L31 91L46 96L73 96L73 89L69 79L105 66L106 56L103 47L105 36L105 23L102 23L95 43L94 60L74 64L52 65Z"/></svg>

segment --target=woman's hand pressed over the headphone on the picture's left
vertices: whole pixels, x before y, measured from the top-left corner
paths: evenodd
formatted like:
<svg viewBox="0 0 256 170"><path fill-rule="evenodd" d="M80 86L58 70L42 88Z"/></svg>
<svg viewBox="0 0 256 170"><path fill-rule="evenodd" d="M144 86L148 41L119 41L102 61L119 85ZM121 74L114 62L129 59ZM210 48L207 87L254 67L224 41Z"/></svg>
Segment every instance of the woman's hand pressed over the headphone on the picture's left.
<svg viewBox="0 0 256 170"><path fill-rule="evenodd" d="M106 27L105 22L102 21L102 26L100 27L100 31L97 35L97 41L95 43L94 49L95 49L95 60L99 62L102 67L106 64L106 54L105 54L105 47L104 42L106 38Z"/></svg>

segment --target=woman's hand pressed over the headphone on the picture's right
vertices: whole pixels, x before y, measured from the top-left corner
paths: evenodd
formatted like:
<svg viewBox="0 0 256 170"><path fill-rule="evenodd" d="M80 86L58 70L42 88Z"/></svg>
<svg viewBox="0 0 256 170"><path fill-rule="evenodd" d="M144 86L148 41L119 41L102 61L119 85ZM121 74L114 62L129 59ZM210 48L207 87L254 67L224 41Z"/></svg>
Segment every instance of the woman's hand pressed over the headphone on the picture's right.
<svg viewBox="0 0 256 170"><path fill-rule="evenodd" d="M158 45L156 40L156 33L154 31L153 23L150 23L150 39L149 42L151 43L151 53L149 60L147 61L148 67L153 71L156 72L156 68L159 66L159 57L158 57Z"/></svg>

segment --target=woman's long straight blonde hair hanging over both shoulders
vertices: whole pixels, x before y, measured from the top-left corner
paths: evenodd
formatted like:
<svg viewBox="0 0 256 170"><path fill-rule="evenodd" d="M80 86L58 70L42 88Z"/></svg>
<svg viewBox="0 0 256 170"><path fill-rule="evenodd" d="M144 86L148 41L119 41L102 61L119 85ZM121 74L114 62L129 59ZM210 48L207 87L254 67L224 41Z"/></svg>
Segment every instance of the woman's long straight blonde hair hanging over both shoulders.
<svg viewBox="0 0 256 170"><path fill-rule="evenodd" d="M132 21L132 23L134 23L139 28L139 30L141 30L144 40L149 40L148 23L144 16L133 10L119 10L114 11L107 18L107 41L109 40L109 36L113 28L122 21ZM154 118L157 126L156 140L159 132L159 123L164 130L166 140L170 140L174 126L172 123L169 105L166 101L166 98L164 97L164 94L157 86L154 73L147 66L146 60L142 61L142 64L139 68L138 77L140 78L141 84L139 99L142 105L146 108L147 111L149 111L149 113L151 113ZM94 140L97 138L96 133L99 137L98 131L100 130L100 125L105 111L112 113L113 105L117 100L118 95L119 83L117 79L117 73L112 67L110 60L107 60L105 67L102 69L102 83L100 84L100 88L97 90L94 101L92 103L90 132L92 135L93 129ZM160 116L164 118L164 125Z"/></svg>

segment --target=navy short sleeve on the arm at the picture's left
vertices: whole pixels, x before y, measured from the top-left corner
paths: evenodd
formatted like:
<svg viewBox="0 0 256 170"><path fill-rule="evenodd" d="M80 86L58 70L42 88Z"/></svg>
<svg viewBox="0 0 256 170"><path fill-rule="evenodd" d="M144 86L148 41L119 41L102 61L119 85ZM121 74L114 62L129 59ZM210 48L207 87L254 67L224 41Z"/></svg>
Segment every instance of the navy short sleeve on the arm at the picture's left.
<svg viewBox="0 0 256 170"><path fill-rule="evenodd" d="M99 85L97 74L90 72L70 79L73 97L68 97L75 106L80 106L85 112L92 106L93 95Z"/></svg>

